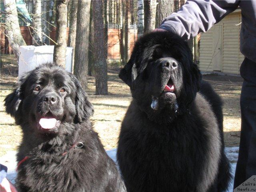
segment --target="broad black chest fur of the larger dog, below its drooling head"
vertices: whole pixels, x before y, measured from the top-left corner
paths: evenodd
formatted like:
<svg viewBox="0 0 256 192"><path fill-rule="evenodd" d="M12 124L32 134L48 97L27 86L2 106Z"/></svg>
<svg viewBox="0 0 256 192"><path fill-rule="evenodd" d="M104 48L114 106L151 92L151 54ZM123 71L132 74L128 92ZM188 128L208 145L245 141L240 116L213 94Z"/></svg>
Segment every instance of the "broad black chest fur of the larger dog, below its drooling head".
<svg viewBox="0 0 256 192"><path fill-rule="evenodd" d="M149 121L132 102L122 123L118 160L126 170L134 162L134 175L125 176L132 178L131 191L206 191L218 173L220 144L216 118L200 94L190 112L166 125ZM210 167L205 166L208 160Z"/></svg>

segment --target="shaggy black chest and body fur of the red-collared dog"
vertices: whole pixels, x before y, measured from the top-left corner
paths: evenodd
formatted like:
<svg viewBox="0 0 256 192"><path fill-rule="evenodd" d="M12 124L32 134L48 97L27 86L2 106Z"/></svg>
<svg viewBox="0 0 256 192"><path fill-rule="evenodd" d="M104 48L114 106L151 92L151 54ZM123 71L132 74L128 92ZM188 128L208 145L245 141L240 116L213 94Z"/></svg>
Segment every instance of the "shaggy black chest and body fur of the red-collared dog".
<svg viewBox="0 0 256 192"><path fill-rule="evenodd" d="M17 177L20 191L96 192L106 191L111 180L122 184L97 134L86 129L77 135L76 139L72 135L53 138L26 154L29 158L20 165ZM76 142L83 142L84 147L72 147ZM23 146L20 148L23 151ZM18 156L21 155L20 152Z"/></svg>

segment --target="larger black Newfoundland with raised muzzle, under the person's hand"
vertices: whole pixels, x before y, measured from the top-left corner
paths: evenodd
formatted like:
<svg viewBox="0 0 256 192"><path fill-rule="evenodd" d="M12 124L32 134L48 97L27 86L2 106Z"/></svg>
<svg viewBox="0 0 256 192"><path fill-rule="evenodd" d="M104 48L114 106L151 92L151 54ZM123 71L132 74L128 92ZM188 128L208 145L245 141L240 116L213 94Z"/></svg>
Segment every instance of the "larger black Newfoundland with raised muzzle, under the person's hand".
<svg viewBox="0 0 256 192"><path fill-rule="evenodd" d="M117 152L127 190L226 190L222 102L201 80L187 43L170 32L146 34L119 76L133 97Z"/></svg>

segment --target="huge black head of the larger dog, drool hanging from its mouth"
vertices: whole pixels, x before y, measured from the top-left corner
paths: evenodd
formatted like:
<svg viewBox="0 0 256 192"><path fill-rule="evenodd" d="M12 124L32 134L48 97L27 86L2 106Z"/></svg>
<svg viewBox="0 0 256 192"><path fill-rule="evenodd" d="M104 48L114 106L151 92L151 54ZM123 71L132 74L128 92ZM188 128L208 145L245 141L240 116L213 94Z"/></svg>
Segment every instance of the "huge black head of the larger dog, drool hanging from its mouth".
<svg viewBox="0 0 256 192"><path fill-rule="evenodd" d="M136 41L119 77L147 115L157 117L158 122L161 119L161 123L187 112L201 79L187 42L164 29L146 33Z"/></svg>

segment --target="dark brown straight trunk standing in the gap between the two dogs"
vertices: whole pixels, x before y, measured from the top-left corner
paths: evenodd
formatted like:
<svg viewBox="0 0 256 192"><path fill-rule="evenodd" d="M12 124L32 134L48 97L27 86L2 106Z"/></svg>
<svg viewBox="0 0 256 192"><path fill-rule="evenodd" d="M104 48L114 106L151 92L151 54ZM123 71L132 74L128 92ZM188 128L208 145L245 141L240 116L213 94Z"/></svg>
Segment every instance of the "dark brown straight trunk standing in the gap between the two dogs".
<svg viewBox="0 0 256 192"><path fill-rule="evenodd" d="M94 22L94 51L95 54L95 78L96 95L108 94L108 75L105 57L104 28L102 18L102 1L92 1L93 22Z"/></svg>

